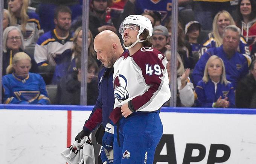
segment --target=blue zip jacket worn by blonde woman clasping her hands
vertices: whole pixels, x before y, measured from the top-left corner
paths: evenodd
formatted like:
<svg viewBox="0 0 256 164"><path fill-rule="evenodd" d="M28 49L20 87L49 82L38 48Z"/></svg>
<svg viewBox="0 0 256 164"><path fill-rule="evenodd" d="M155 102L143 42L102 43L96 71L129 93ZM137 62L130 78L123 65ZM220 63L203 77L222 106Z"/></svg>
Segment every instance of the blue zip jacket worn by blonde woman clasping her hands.
<svg viewBox="0 0 256 164"><path fill-rule="evenodd" d="M212 108L213 103L215 103L220 96L222 99L228 97L229 108L235 107L235 93L231 83L225 85L224 83L218 82L215 93L215 85L212 80L209 79L208 82L201 80L198 82L195 92L197 93L198 107Z"/></svg>

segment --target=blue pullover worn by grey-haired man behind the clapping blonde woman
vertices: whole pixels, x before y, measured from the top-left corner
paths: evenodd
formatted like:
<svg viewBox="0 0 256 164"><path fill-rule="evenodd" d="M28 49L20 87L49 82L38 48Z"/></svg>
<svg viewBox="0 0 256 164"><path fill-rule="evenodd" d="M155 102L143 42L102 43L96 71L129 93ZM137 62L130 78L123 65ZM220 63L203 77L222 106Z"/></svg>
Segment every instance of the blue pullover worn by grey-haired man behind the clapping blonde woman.
<svg viewBox="0 0 256 164"><path fill-rule="evenodd" d="M248 55L236 52L231 59L228 59L222 46L207 50L207 52L205 52L198 60L192 73L194 86L203 79L204 67L212 55L216 55L223 60L226 70L226 78L232 83L233 87L236 88L238 80L245 77L248 73L248 67L251 65L251 58Z"/></svg>

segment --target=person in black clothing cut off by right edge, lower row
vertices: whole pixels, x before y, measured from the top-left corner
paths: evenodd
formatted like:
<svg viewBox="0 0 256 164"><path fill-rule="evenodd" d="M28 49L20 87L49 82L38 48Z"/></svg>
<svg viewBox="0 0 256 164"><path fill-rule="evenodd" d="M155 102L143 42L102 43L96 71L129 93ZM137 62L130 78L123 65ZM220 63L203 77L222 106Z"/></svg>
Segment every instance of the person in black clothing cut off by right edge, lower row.
<svg viewBox="0 0 256 164"><path fill-rule="evenodd" d="M256 60L251 64L250 73L240 80L236 87L236 107L256 108Z"/></svg>

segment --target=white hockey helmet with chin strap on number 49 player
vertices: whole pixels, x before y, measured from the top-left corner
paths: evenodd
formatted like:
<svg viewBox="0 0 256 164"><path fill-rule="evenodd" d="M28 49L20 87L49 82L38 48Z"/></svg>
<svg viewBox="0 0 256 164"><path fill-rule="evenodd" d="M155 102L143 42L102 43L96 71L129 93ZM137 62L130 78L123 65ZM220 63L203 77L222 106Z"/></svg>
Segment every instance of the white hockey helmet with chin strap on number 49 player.
<svg viewBox="0 0 256 164"><path fill-rule="evenodd" d="M149 36L152 36L153 27L152 27L151 21L147 17L144 17L143 15L129 15L128 17L125 18L125 20L123 20L122 24L119 27L119 33L122 35L122 38L123 38L123 31L124 31L123 29L127 28L126 26L129 24L139 26L139 30L137 30L139 33L137 35L137 40L131 46L126 47L125 45L123 45L125 49L130 49L138 42L146 41L145 39L140 40L139 38L140 34L144 31L144 29L147 29L149 31Z"/></svg>

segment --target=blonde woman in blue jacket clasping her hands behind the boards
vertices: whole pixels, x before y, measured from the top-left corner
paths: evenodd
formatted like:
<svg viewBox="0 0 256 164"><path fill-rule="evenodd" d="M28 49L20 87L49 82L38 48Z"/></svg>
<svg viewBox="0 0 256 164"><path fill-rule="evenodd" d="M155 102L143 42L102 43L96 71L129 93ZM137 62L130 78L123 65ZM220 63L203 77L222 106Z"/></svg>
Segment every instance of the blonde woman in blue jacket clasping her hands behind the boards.
<svg viewBox="0 0 256 164"><path fill-rule="evenodd" d="M203 80L195 88L197 106L205 108L234 108L235 93L227 81L225 66L221 58L212 55L206 62Z"/></svg>

